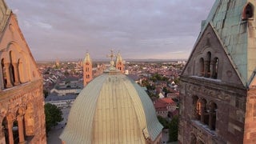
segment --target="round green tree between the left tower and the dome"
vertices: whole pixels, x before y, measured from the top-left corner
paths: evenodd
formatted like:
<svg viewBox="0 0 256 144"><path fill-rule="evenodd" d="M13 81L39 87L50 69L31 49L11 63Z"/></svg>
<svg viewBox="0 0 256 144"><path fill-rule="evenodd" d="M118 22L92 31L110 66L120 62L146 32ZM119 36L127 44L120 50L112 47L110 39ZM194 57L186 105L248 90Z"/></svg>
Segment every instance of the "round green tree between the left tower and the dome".
<svg viewBox="0 0 256 144"><path fill-rule="evenodd" d="M45 105L45 114L46 114L46 133L50 131L53 126L57 126L58 122L62 122L62 110L57 106L50 103Z"/></svg>

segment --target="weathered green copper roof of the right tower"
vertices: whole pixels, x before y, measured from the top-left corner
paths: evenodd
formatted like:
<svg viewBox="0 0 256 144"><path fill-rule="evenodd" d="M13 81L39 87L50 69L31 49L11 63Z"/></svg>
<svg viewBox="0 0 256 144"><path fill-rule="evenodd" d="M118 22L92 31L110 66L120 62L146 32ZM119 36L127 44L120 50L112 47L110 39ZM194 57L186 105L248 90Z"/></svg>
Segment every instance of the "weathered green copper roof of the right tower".
<svg viewBox="0 0 256 144"><path fill-rule="evenodd" d="M198 37L199 40L210 23L245 86L250 84L250 77L256 66L255 56L252 56L255 46L248 45L248 23L242 20L242 11L248 2L248 0L216 0L208 18L202 21L202 31Z"/></svg>

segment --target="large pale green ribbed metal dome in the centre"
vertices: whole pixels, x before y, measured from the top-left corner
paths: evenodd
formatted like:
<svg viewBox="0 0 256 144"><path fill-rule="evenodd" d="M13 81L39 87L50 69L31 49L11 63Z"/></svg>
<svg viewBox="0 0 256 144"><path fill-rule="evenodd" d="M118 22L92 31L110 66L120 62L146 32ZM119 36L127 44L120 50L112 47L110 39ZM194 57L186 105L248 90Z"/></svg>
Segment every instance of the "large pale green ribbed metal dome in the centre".
<svg viewBox="0 0 256 144"><path fill-rule="evenodd" d="M146 143L158 141L161 134L146 91L110 69L78 95L60 138L65 143Z"/></svg>

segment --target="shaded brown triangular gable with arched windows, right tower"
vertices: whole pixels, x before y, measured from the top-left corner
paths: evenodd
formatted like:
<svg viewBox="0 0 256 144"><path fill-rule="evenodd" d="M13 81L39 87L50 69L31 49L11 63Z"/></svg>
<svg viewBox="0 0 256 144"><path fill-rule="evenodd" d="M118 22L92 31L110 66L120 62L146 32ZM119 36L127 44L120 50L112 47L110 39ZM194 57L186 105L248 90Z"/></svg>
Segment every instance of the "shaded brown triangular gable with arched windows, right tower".
<svg viewBox="0 0 256 144"><path fill-rule="evenodd" d="M243 82L234 67L218 38L218 34L208 24L195 44L182 75L242 85Z"/></svg>

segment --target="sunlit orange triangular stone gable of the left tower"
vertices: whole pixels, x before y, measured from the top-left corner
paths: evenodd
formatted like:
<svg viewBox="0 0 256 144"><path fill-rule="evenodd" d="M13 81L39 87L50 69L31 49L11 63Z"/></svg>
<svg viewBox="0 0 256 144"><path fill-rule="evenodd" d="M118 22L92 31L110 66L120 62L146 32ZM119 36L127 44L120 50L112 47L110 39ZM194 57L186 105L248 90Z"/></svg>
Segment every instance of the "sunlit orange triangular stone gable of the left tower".
<svg viewBox="0 0 256 144"><path fill-rule="evenodd" d="M18 26L17 18L12 13L10 13L10 18L8 18L0 37L0 61L2 63L0 71L3 73L0 73L2 88L10 87L10 82L16 86L18 83L41 79L41 74ZM9 66L14 70L10 71L10 78L7 78L5 73L8 73L6 67ZM10 79L9 85L8 82L5 83L7 79Z"/></svg>

